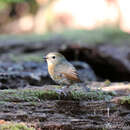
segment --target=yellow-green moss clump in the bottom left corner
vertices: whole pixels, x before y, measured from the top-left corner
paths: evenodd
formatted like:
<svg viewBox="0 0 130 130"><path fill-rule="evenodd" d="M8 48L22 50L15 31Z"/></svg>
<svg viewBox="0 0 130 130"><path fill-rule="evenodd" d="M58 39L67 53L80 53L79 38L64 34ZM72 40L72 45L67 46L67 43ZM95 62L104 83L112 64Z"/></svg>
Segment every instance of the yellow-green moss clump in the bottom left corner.
<svg viewBox="0 0 130 130"><path fill-rule="evenodd" d="M34 130L34 128L29 128L20 123L7 123L0 125L0 130Z"/></svg>

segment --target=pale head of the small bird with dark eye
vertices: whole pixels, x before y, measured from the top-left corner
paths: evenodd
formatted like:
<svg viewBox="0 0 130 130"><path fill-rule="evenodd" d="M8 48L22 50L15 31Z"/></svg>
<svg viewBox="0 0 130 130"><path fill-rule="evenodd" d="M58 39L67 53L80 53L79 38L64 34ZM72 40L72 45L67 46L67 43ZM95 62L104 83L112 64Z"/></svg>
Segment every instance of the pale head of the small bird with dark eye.
<svg viewBox="0 0 130 130"><path fill-rule="evenodd" d="M56 65L56 64L66 61L65 57L58 52L48 53L44 59L46 59L48 65L49 64Z"/></svg>

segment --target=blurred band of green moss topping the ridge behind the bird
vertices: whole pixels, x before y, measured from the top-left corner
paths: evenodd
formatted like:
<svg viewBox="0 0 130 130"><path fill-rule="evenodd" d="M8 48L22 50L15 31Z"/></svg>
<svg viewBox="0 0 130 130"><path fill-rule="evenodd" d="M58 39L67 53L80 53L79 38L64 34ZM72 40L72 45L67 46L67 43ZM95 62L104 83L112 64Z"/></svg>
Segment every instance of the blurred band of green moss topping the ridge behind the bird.
<svg viewBox="0 0 130 130"><path fill-rule="evenodd" d="M26 42L39 42L49 40L53 37L62 37L64 39L76 41L79 44L100 44L113 43L122 44L124 41L130 41L130 35L121 31L117 27L102 27L94 30L75 30L69 29L61 32L46 33L44 35L1 35L2 40L21 40Z"/></svg>

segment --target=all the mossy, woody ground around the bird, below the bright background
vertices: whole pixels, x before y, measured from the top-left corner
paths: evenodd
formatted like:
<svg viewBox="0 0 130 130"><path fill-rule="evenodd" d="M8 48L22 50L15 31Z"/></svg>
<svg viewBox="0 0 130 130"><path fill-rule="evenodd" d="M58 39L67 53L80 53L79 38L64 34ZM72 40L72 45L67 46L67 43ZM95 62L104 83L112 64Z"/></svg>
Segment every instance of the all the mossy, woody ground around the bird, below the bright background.
<svg viewBox="0 0 130 130"><path fill-rule="evenodd" d="M115 28L1 35L0 130L129 130L129 43L129 34ZM61 86L42 59L50 51L79 61L90 91L80 84L66 96L57 93Z"/></svg>

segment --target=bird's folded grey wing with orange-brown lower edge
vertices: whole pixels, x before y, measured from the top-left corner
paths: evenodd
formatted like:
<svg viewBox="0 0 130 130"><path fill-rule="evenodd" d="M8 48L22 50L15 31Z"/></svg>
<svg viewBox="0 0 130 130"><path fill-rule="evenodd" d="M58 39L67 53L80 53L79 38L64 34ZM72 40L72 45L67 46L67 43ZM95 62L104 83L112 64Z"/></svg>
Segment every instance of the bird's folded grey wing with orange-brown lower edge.
<svg viewBox="0 0 130 130"><path fill-rule="evenodd" d="M60 64L60 66L58 66L57 69L58 69L57 72L60 75L63 75L66 79L71 80L71 81L80 82L78 73L72 64L63 63L63 64Z"/></svg>

